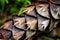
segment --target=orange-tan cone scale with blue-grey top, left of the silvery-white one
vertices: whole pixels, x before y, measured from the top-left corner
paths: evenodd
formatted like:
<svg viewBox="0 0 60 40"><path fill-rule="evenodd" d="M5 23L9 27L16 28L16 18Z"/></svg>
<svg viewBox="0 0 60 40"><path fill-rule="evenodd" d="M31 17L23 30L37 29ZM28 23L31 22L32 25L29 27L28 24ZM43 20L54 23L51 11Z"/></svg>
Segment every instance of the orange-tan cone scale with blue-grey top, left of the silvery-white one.
<svg viewBox="0 0 60 40"><path fill-rule="evenodd" d="M28 26L27 29L36 30L37 19L34 17L26 16L26 24Z"/></svg>

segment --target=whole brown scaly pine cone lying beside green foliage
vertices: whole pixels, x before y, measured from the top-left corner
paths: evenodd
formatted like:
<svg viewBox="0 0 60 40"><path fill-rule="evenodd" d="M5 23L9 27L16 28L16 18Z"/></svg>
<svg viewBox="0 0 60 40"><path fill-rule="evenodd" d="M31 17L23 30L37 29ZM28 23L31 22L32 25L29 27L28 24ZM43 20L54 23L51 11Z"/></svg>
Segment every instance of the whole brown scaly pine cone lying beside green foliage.
<svg viewBox="0 0 60 40"><path fill-rule="evenodd" d="M0 27L0 40L43 40L42 35L60 37L60 0L38 0Z"/></svg>

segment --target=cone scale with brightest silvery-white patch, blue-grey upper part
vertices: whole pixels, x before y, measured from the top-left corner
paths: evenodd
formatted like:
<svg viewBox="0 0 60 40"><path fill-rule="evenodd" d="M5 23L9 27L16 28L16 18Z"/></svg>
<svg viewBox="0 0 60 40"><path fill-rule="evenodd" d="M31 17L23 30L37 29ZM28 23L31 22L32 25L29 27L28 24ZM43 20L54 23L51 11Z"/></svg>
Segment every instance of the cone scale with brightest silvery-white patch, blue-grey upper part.
<svg viewBox="0 0 60 40"><path fill-rule="evenodd" d="M44 31L47 28L47 26L49 25L49 21L50 20L45 19L38 15L38 30Z"/></svg>

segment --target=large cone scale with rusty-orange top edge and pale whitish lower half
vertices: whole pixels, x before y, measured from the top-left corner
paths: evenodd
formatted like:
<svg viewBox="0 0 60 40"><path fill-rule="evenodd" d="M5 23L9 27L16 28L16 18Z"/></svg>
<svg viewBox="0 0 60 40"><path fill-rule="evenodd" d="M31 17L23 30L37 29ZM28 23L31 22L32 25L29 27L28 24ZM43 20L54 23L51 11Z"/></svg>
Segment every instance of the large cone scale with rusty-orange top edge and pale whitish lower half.
<svg viewBox="0 0 60 40"><path fill-rule="evenodd" d="M36 10L37 10L38 14L40 14L44 17L50 18L48 4L38 4L36 6Z"/></svg>

